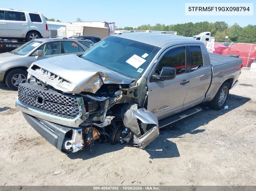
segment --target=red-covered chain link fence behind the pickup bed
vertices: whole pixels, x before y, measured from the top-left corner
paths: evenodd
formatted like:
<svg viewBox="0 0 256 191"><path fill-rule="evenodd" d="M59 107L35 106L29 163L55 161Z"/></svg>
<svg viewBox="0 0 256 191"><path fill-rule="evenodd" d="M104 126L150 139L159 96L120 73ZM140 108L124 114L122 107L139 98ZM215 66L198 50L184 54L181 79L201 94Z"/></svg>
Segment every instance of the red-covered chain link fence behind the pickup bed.
<svg viewBox="0 0 256 191"><path fill-rule="evenodd" d="M205 46L208 46L207 43ZM243 66L247 68L251 67L251 63L256 59L256 44L214 42L214 49L212 49L211 52L226 56L239 56L239 58L243 60Z"/></svg>

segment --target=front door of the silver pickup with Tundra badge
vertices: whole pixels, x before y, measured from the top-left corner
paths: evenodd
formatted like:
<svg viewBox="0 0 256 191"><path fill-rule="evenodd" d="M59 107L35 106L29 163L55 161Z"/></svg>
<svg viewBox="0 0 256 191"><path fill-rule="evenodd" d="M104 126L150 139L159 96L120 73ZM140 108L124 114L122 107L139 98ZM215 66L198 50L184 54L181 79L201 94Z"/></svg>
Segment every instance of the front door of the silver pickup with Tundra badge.
<svg viewBox="0 0 256 191"><path fill-rule="evenodd" d="M172 46L166 49L158 58L153 70L148 77L148 107L147 110L154 113L158 120L164 119L175 113L181 112L183 102L188 92L189 73L187 51L189 46ZM154 72L161 71L163 66L176 69L176 77L172 80L153 81Z"/></svg>

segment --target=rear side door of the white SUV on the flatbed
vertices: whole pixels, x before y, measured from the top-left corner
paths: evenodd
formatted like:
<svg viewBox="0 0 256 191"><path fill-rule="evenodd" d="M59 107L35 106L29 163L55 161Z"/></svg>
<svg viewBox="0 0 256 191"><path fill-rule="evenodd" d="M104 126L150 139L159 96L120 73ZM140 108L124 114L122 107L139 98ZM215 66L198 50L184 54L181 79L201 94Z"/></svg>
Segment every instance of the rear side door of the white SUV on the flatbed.
<svg viewBox="0 0 256 191"><path fill-rule="evenodd" d="M24 12L7 11L7 25L9 37L25 38L25 34L29 29Z"/></svg>

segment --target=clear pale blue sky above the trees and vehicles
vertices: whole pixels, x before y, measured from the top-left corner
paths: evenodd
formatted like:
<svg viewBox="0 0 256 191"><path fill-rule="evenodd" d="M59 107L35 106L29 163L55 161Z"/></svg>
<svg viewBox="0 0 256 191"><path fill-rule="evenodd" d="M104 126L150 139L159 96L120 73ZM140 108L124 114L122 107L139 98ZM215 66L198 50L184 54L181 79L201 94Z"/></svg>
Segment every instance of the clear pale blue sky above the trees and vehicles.
<svg viewBox="0 0 256 191"><path fill-rule="evenodd" d="M185 16L185 3L205 3L201 0L43 0L31 3L29 0L0 0L0 8L41 12L47 18L62 22L75 22L77 18L83 21L115 22L119 27L138 27L142 24L151 26L160 23L165 25L188 22L225 21L228 25L238 23L241 27L248 24L256 25L255 0L253 16ZM211 1L212 3L243 3L240 0ZM211 3L208 2L208 3ZM40 4L40 5L39 5Z"/></svg>

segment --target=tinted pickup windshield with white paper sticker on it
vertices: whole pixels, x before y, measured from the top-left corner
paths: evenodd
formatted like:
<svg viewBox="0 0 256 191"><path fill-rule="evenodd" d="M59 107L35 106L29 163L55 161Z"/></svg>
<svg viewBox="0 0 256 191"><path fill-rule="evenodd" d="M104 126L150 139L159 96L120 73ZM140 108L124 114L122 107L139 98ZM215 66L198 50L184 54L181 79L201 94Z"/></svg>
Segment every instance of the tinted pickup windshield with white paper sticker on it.
<svg viewBox="0 0 256 191"><path fill-rule="evenodd" d="M156 46L110 36L92 46L81 57L136 79L159 50Z"/></svg>

